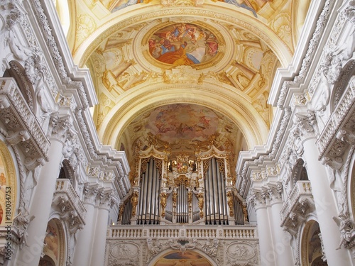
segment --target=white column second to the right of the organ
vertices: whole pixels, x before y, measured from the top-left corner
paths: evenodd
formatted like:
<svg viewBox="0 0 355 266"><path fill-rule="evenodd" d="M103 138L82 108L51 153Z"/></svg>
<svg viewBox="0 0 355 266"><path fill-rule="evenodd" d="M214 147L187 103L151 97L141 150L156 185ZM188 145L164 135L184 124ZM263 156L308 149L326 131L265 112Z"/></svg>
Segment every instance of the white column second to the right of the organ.
<svg viewBox="0 0 355 266"><path fill-rule="evenodd" d="M269 217L271 231L273 234L273 248L275 254L275 265L294 266L292 247L290 245L290 234L283 231L281 225L280 211L283 208L282 200L283 187L280 182L268 185L269 192Z"/></svg>

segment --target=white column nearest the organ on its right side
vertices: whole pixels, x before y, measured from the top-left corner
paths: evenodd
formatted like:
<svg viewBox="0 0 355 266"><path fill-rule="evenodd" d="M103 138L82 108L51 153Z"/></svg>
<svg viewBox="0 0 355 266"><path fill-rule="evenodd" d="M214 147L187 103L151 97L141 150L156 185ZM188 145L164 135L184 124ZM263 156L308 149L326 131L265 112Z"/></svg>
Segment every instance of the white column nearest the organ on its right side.
<svg viewBox="0 0 355 266"><path fill-rule="evenodd" d="M253 189L249 200L256 210L261 265L275 266L273 237L271 234L271 224L269 222L268 210L266 207L266 195L263 192Z"/></svg>

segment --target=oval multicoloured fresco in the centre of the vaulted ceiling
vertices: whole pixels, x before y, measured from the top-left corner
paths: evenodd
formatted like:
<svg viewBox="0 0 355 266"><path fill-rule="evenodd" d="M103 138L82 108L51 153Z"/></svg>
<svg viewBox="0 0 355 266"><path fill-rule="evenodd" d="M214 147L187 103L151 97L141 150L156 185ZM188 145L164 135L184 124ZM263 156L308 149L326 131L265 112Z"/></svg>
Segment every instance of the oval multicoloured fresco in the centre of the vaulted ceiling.
<svg viewBox="0 0 355 266"><path fill-rule="evenodd" d="M175 23L155 31L149 53L169 65L196 65L211 60L218 51L216 36L191 23Z"/></svg>

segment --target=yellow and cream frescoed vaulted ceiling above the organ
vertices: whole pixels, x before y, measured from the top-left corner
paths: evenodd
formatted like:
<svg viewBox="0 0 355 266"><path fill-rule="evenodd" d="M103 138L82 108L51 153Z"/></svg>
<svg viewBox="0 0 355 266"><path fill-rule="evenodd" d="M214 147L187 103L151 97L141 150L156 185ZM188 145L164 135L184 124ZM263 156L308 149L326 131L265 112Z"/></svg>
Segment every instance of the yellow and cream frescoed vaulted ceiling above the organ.
<svg viewBox="0 0 355 266"><path fill-rule="evenodd" d="M104 145L266 143L275 71L290 64L308 0L57 0L79 67L97 94Z"/></svg>

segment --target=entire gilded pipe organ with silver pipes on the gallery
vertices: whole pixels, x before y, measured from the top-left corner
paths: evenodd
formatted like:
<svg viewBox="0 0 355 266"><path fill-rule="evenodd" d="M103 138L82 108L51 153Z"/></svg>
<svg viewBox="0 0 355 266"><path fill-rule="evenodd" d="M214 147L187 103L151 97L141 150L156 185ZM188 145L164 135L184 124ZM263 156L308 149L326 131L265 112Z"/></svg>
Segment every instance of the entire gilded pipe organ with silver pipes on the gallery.
<svg viewBox="0 0 355 266"><path fill-rule="evenodd" d="M193 157L169 155L153 145L137 153L119 224L248 224L246 201L234 187L228 152L212 145Z"/></svg>

